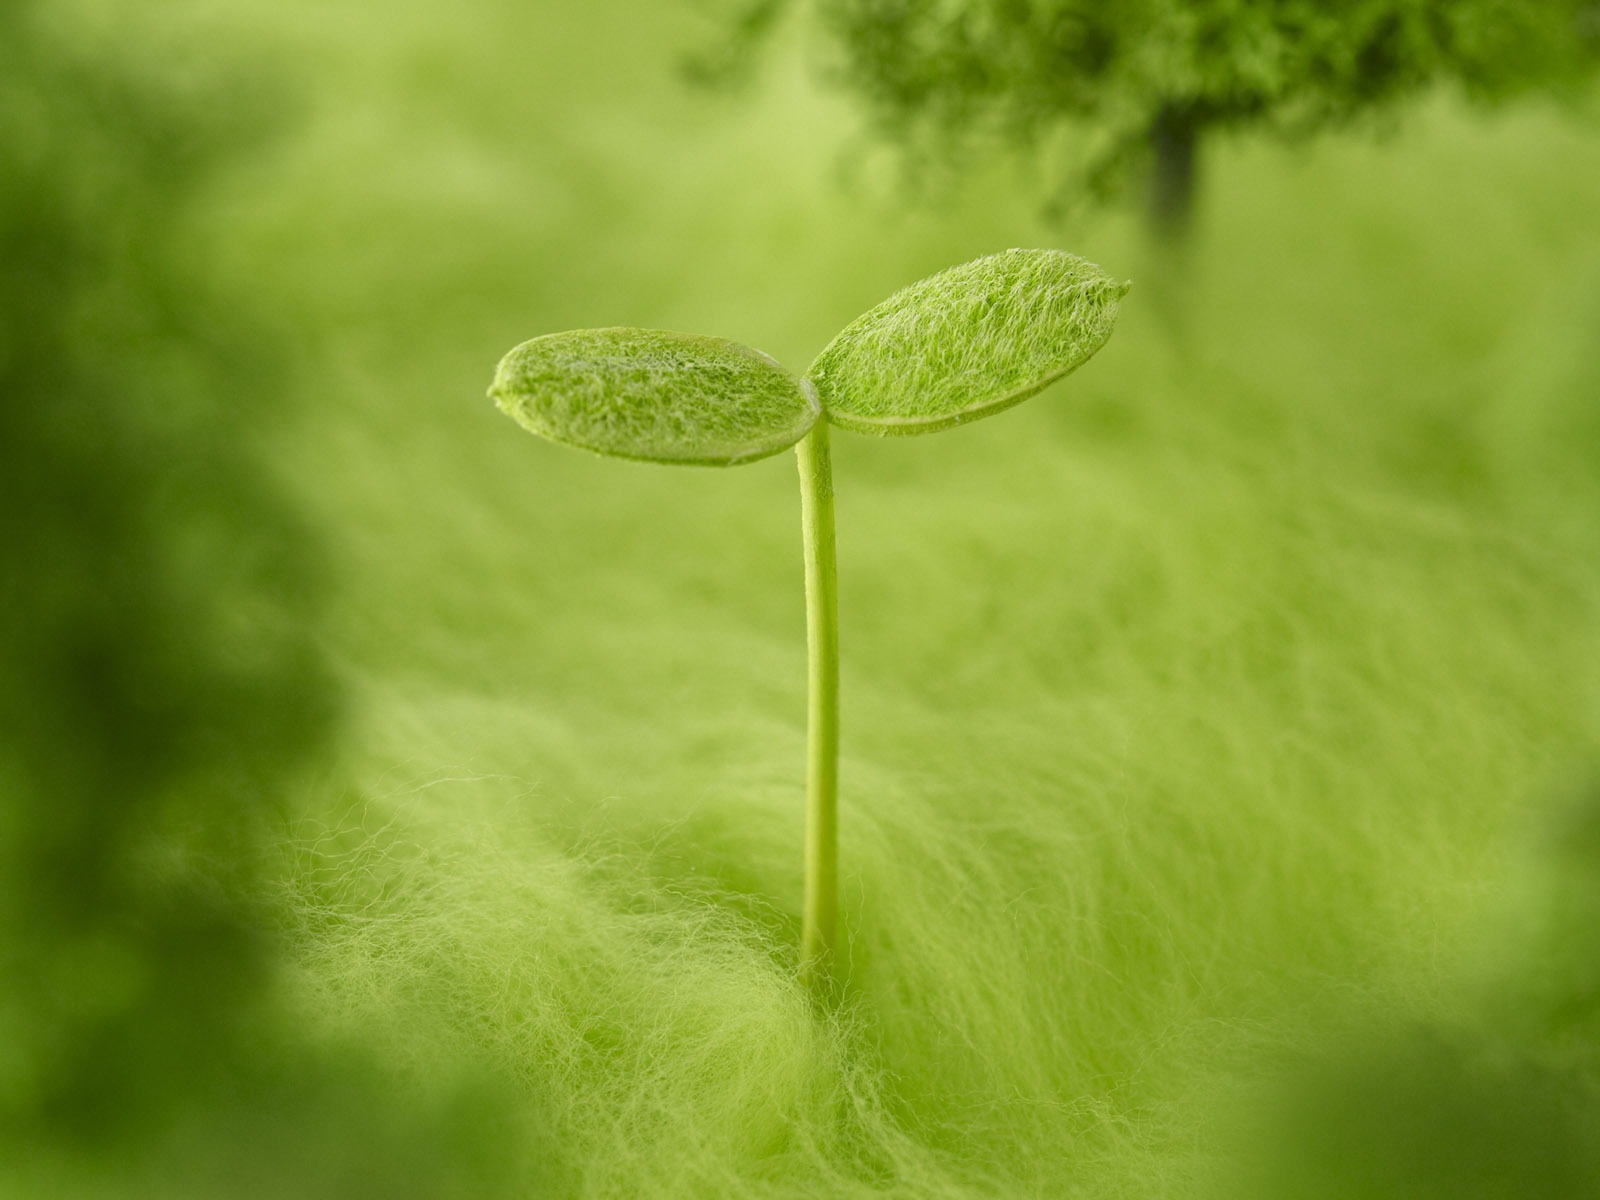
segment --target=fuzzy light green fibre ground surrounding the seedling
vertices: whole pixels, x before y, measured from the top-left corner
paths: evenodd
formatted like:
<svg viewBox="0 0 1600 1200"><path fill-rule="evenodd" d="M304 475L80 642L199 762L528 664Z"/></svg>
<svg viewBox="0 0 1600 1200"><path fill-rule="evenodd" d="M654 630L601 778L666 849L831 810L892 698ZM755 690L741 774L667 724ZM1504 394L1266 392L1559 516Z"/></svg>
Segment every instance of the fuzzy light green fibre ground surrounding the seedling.
<svg viewBox="0 0 1600 1200"><path fill-rule="evenodd" d="M234 8L312 98L216 221L302 347L275 462L347 690L270 880L283 1003L419 1112L478 1090L477 1194L1240 1195L1298 1054L1515 995L1600 741L1592 126L1219 147L1174 318L1133 222L1002 168L842 186L798 66L682 93L667 6ZM586 325L805 363L1011 245L1134 291L1013 413L834 438L819 1018L792 461L606 462L483 389Z"/></svg>

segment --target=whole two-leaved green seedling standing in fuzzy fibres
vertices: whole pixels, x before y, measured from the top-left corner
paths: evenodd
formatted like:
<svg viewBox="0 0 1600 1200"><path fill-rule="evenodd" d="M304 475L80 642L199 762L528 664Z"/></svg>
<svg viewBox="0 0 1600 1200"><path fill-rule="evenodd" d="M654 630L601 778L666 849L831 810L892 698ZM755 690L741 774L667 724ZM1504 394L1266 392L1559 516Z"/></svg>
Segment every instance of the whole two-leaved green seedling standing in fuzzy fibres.
<svg viewBox="0 0 1600 1200"><path fill-rule="evenodd" d="M525 429L613 458L733 467L795 448L808 725L800 978L832 990L838 854L838 592L829 426L931 434L1026 400L1110 336L1128 285L1059 250L1008 250L912 283L846 325L803 376L760 350L661 330L523 342L490 397Z"/></svg>

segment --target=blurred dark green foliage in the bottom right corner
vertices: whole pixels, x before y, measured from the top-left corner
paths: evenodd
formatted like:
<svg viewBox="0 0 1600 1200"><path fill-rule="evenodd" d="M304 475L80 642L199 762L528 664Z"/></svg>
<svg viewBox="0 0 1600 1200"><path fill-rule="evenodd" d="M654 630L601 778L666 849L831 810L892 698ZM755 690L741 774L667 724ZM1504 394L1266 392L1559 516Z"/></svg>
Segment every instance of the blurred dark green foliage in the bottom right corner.
<svg viewBox="0 0 1600 1200"><path fill-rule="evenodd" d="M1600 1195L1600 789L1557 829L1480 1011L1366 1029L1280 1098L1248 1198Z"/></svg>

